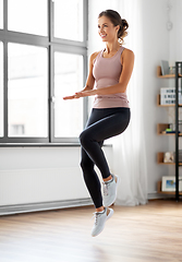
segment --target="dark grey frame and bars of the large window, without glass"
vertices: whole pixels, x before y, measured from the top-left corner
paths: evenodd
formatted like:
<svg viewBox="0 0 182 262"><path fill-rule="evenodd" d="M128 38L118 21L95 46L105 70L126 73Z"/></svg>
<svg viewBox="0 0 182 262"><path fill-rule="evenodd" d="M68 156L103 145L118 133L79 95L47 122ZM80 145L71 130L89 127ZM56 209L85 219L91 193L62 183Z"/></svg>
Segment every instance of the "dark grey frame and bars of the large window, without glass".
<svg viewBox="0 0 182 262"><path fill-rule="evenodd" d="M8 31L8 0L3 0L3 29L0 29L0 41L3 44L3 138L0 138L0 146L9 145L23 145L33 146L34 144L38 146L41 145L65 145L65 144L78 144L78 138L54 138L54 122L53 122L53 63L54 63L54 52L68 52L74 55L83 56L83 83L86 81L87 76L87 29L88 29L88 0L83 0L83 15L84 15L84 28L83 28L83 41L68 40L56 38L53 36L53 0L47 0L48 4L48 35L33 35L21 32ZM47 48L48 56L48 136L47 138L21 138L21 136L8 136L8 44L24 44L33 45L37 47ZM83 126L87 119L87 98L83 99Z"/></svg>

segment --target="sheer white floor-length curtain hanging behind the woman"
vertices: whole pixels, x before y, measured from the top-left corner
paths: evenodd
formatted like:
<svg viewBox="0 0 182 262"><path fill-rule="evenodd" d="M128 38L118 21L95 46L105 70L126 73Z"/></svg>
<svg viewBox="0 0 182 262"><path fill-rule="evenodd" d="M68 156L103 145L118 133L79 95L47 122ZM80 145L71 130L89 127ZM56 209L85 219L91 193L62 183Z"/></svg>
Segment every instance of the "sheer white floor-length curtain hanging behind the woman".
<svg viewBox="0 0 182 262"><path fill-rule="evenodd" d="M147 203L147 166L143 108L143 35L142 0L118 1L118 11L129 22L125 47L135 53L135 64L128 87L131 122L125 132L113 142L113 172L121 178L116 204Z"/></svg>

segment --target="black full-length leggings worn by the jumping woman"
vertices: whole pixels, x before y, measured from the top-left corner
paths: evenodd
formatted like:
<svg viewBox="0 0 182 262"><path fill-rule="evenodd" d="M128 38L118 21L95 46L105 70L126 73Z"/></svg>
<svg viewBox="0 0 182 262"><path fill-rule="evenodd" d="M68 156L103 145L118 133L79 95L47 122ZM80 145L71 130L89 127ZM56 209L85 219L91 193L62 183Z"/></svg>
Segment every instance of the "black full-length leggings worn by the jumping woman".
<svg viewBox="0 0 182 262"><path fill-rule="evenodd" d="M88 192L95 207L102 206L100 181L94 165L96 165L102 178L110 176L109 166L101 150L104 141L122 133L130 122L130 108L94 108L85 130L80 135L82 145L81 167Z"/></svg>

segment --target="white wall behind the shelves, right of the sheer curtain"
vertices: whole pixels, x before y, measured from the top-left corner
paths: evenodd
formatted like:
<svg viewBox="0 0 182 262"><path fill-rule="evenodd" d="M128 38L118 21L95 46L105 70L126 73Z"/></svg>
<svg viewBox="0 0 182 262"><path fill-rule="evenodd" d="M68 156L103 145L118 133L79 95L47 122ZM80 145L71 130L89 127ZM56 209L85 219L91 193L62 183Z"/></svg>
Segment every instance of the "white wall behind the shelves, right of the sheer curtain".
<svg viewBox="0 0 182 262"><path fill-rule="evenodd" d="M173 24L171 31L167 31L168 12L167 4L172 9L169 17ZM174 151L174 139L156 134L157 123L168 122L172 108L159 108L156 106L156 96L160 87L174 86L174 80L161 80L156 78L157 66L160 60L169 60L174 66L175 60L182 60L182 1L180 0L142 0L143 19L143 69L144 69L144 116L146 133L146 152L148 167L148 193L156 192L156 183L162 176L174 175L174 167L157 165L157 152Z"/></svg>

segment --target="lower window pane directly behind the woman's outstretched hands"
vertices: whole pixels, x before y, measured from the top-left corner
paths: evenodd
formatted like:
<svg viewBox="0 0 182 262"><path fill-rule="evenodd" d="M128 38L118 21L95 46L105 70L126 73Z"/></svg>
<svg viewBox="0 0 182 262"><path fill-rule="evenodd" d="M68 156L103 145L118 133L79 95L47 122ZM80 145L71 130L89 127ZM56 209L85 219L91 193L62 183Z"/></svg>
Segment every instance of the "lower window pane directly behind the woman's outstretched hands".
<svg viewBox="0 0 182 262"><path fill-rule="evenodd" d="M77 138L83 129L83 98L63 100L83 88L83 56L54 53L54 136Z"/></svg>

